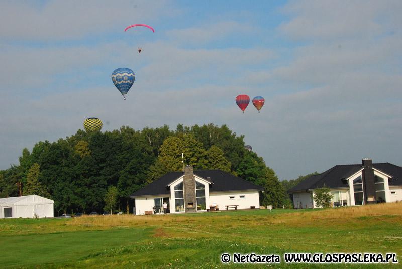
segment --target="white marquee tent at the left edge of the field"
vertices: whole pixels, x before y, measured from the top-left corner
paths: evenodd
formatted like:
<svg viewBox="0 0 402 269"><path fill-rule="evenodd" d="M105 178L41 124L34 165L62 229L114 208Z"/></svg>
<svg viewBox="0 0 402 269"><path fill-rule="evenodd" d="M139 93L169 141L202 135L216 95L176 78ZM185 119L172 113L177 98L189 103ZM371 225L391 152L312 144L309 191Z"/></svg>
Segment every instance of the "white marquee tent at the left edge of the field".
<svg viewBox="0 0 402 269"><path fill-rule="evenodd" d="M0 218L53 217L53 203L38 195L0 198Z"/></svg>

